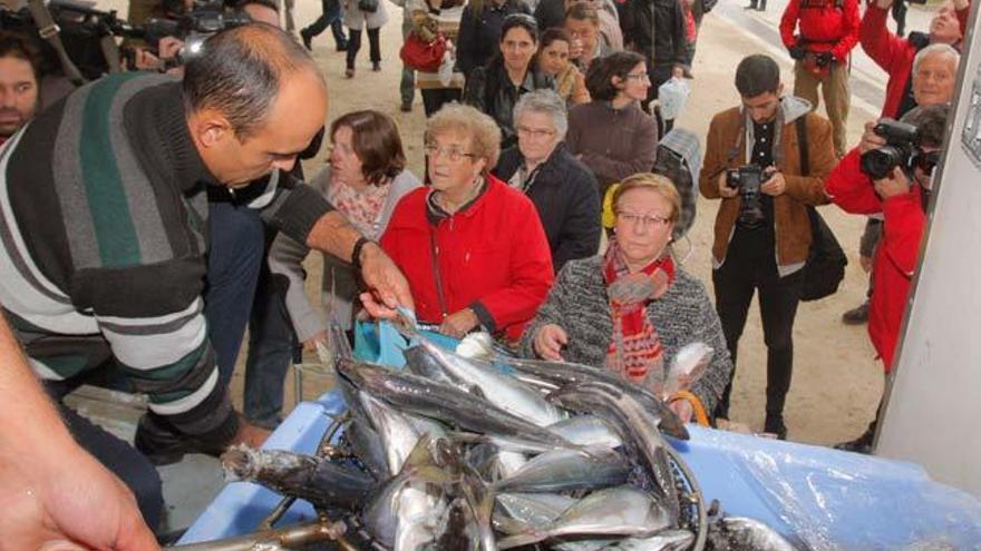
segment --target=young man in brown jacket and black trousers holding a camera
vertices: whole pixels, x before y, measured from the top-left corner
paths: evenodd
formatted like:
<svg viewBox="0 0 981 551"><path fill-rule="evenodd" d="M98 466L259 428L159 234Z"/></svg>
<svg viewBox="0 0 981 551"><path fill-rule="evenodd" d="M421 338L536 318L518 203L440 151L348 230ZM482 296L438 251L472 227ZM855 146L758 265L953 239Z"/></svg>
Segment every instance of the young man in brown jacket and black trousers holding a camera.
<svg viewBox="0 0 981 551"><path fill-rule="evenodd" d="M794 316L810 247L806 207L828 201L823 180L835 165L832 127L827 119L809 112L806 100L783 95L780 69L767 56L749 56L739 63L736 88L742 105L712 118L699 178L706 198L722 200L712 245L716 311L735 367L746 314L754 292L759 291L767 345L765 431L784 439L784 401L794 365ZM800 131L806 134L804 140ZM800 154L805 147L806 169ZM727 177L731 174L728 169L747 165L757 167L761 175L754 178L749 169ZM756 193L755 179L759 181ZM716 410L717 419L729 417L731 390L730 381Z"/></svg>

